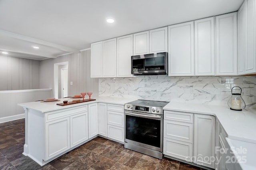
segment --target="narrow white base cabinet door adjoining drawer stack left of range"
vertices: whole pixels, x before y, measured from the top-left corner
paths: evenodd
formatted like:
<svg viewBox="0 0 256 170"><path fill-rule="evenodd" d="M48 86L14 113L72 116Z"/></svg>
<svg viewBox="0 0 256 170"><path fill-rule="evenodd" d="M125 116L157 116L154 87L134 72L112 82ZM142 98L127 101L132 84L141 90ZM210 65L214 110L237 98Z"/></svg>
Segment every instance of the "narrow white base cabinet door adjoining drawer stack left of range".
<svg viewBox="0 0 256 170"><path fill-rule="evenodd" d="M98 128L99 134L102 136L108 136L108 122L107 122L107 104L98 103Z"/></svg>

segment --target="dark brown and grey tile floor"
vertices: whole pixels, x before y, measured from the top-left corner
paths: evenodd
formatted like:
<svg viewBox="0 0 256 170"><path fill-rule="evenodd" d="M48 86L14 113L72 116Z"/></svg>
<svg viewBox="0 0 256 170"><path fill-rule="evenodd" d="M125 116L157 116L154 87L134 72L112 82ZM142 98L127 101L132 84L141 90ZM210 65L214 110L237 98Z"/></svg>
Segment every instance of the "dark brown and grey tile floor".
<svg viewBox="0 0 256 170"><path fill-rule="evenodd" d="M0 124L0 170L202 170L164 158L159 160L97 137L41 167L24 156L24 119Z"/></svg>

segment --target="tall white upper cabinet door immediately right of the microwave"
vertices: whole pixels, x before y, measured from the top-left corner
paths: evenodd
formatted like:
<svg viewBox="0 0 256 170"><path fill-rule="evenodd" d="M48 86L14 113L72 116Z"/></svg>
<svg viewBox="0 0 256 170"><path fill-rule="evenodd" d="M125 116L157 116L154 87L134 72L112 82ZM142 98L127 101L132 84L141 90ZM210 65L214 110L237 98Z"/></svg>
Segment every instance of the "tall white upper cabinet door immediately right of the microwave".
<svg viewBox="0 0 256 170"><path fill-rule="evenodd" d="M168 76L194 75L194 22L168 26Z"/></svg>

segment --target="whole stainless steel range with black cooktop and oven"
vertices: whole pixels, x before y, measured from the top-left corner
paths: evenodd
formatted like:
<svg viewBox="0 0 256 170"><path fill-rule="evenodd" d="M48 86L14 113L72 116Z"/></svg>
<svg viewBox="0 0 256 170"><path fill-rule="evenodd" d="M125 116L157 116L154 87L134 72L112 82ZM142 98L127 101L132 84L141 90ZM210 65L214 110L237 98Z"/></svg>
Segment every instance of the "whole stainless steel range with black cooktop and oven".
<svg viewBox="0 0 256 170"><path fill-rule="evenodd" d="M124 147L163 157L163 107L168 102L136 100L124 105Z"/></svg>

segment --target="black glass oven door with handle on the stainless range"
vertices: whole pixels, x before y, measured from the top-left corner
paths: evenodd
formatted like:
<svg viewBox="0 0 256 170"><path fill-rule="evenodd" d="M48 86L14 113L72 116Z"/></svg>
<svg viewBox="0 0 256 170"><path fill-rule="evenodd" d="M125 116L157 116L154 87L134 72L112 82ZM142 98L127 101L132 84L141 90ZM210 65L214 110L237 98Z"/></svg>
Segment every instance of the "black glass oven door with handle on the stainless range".
<svg viewBox="0 0 256 170"><path fill-rule="evenodd" d="M162 152L163 115L125 111L124 142Z"/></svg>

